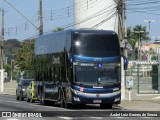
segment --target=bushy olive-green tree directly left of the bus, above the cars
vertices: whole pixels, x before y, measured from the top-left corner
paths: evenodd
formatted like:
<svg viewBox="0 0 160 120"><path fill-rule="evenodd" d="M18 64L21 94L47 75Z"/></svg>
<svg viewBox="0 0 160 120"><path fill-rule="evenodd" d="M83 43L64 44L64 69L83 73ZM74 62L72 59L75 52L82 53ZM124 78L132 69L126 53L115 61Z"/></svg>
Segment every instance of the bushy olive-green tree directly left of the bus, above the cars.
<svg viewBox="0 0 160 120"><path fill-rule="evenodd" d="M34 40L23 43L16 53L14 64L21 71L34 69Z"/></svg>

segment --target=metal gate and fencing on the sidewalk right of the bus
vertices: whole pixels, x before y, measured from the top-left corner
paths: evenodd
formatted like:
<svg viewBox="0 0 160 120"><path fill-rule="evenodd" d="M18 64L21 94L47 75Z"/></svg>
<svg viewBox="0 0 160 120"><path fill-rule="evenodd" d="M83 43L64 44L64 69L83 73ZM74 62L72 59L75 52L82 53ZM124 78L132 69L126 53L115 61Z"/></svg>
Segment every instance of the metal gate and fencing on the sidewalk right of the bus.
<svg viewBox="0 0 160 120"><path fill-rule="evenodd" d="M130 61L126 78L133 78L133 89L140 94L157 94L158 92L158 62Z"/></svg>

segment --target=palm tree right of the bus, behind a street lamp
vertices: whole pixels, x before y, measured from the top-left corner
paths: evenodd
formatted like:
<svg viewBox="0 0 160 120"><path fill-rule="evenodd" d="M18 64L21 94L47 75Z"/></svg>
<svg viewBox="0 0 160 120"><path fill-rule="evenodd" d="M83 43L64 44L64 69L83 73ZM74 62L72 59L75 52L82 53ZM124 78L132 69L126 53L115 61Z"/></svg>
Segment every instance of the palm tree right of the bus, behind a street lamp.
<svg viewBox="0 0 160 120"><path fill-rule="evenodd" d="M145 26L136 25L134 28L128 27L127 28L128 43L131 45L131 48L132 48L132 54L130 59L137 58L137 53L138 53L136 48L136 43L139 40L139 34L136 34L135 31L144 31L140 36L141 37L140 43L142 43L142 41L149 40L149 36L148 36L149 33L146 31Z"/></svg>

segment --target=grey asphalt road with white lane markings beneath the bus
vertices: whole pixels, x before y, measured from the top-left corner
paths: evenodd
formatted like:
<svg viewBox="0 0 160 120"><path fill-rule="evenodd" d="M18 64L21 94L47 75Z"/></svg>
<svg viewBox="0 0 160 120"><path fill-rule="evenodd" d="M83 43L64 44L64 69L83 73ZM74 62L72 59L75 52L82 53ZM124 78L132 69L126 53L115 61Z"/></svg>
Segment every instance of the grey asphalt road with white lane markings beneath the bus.
<svg viewBox="0 0 160 120"><path fill-rule="evenodd" d="M115 120L117 118L124 120L141 119L140 117L126 117L113 115L111 113L125 114L126 109L120 106L113 106L113 109L100 109L99 105L88 105L85 108L65 109L56 106L42 106L39 102L27 103L24 101L17 101L15 96L0 95L0 111L3 117L0 120ZM3 112L3 114L2 114ZM6 113L7 112L7 113ZM11 117L5 116L12 115ZM18 115L19 117L16 117ZM26 118L26 116L31 116ZM37 116L37 117L33 117ZM42 116L42 117L41 117ZM49 116L49 117L47 117ZM159 119L157 117L144 117L149 119Z"/></svg>

